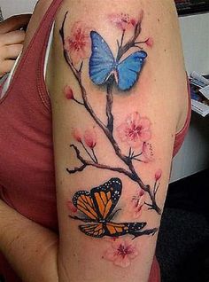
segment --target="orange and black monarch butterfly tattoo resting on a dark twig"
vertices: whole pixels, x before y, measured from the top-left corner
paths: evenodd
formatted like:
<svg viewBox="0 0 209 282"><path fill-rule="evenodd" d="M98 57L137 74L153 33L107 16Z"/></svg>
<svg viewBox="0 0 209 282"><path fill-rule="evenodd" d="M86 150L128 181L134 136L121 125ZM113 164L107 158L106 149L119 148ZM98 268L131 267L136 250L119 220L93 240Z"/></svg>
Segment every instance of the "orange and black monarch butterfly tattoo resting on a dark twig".
<svg viewBox="0 0 209 282"><path fill-rule="evenodd" d="M74 194L74 207L78 209L82 217L69 215L74 220L81 220L87 224L79 225L84 234L102 238L104 236L119 237L123 235L154 235L158 228L143 230L146 223L114 223L112 218L120 211L116 208L122 192L122 183L119 178L111 178L106 183L92 188L90 192L79 191Z"/></svg>

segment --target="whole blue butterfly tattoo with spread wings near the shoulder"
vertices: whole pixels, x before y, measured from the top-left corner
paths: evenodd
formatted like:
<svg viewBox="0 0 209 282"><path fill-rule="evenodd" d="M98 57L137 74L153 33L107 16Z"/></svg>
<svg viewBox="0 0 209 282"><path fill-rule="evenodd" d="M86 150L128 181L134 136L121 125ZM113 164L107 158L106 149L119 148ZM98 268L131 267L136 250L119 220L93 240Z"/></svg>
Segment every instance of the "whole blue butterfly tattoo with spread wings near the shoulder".
<svg viewBox="0 0 209 282"><path fill-rule="evenodd" d="M103 85L114 74L120 90L129 90L135 85L147 57L145 51L135 51L121 62L114 59L112 51L104 38L96 31L90 32L91 56L89 77L97 85Z"/></svg>

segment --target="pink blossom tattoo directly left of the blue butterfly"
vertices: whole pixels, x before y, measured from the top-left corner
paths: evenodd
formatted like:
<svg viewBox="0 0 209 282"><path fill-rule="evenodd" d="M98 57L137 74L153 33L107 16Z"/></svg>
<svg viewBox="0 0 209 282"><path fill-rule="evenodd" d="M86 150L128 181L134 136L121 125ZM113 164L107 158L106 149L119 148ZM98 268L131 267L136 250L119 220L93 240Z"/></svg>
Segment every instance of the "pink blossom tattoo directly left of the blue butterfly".
<svg viewBox="0 0 209 282"><path fill-rule="evenodd" d="M66 38L65 48L70 53L74 65L90 55L90 29L81 21L76 21L71 29L70 35Z"/></svg>

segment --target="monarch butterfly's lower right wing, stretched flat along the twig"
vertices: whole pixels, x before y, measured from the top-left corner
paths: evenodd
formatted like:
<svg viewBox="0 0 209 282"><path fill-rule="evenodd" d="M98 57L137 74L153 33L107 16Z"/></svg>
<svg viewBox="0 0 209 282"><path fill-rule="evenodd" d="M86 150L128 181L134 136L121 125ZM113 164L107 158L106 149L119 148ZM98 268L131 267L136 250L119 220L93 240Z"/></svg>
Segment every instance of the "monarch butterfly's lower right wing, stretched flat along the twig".
<svg viewBox="0 0 209 282"><path fill-rule="evenodd" d="M104 236L119 237L126 234L135 235L146 223L106 223Z"/></svg>

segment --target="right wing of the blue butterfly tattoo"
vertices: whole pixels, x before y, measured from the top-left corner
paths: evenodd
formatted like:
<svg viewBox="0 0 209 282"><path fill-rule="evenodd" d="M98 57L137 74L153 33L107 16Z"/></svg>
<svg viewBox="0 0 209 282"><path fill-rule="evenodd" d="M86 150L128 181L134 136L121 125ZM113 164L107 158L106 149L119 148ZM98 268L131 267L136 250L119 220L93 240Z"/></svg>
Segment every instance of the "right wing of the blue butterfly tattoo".
<svg viewBox="0 0 209 282"><path fill-rule="evenodd" d="M118 65L118 86L120 90L129 90L135 84L146 57L145 51L136 51Z"/></svg>

